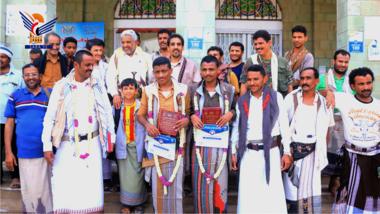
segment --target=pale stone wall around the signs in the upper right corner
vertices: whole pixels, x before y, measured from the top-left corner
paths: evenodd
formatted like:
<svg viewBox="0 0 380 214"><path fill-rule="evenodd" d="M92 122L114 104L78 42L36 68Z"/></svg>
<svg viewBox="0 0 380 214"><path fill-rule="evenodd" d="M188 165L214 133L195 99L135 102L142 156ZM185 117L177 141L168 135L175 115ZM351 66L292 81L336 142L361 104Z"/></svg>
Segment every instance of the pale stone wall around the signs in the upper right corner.
<svg viewBox="0 0 380 214"><path fill-rule="evenodd" d="M338 0L338 48L348 49L348 35L364 30L365 17L380 17L378 0ZM364 37L365 38L365 37ZM364 40L363 53L351 53L349 71L358 67L369 67L375 74L373 96L380 99L380 61L368 61L368 45L372 39Z"/></svg>

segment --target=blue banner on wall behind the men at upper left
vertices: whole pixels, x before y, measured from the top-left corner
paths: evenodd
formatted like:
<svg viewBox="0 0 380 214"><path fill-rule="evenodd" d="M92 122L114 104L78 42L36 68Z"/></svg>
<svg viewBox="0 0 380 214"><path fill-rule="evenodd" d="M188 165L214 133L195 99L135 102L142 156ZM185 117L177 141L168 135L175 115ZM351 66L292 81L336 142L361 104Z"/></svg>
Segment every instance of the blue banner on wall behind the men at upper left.
<svg viewBox="0 0 380 214"><path fill-rule="evenodd" d="M77 51L86 49L86 42L90 39L104 41L104 22L57 23L55 31L61 37L61 50L66 37L77 40Z"/></svg>

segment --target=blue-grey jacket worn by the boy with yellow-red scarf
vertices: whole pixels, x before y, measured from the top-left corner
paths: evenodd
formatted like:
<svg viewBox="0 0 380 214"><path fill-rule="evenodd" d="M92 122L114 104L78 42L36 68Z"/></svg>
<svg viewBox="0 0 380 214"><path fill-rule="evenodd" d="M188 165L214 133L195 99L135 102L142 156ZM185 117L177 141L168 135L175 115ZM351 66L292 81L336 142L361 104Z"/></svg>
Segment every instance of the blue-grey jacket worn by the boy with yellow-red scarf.
<svg viewBox="0 0 380 214"><path fill-rule="evenodd" d="M137 111L140 107L140 101L136 99L136 109L135 109L135 140L136 140L136 151L137 160L142 162L144 150L144 139L145 139L145 127L137 121ZM123 122L123 112L124 112L124 101L121 104L120 120L119 126L116 131L116 143L115 151L117 159L127 158L127 136L125 134L124 122ZM115 107L112 107L112 113L115 116Z"/></svg>

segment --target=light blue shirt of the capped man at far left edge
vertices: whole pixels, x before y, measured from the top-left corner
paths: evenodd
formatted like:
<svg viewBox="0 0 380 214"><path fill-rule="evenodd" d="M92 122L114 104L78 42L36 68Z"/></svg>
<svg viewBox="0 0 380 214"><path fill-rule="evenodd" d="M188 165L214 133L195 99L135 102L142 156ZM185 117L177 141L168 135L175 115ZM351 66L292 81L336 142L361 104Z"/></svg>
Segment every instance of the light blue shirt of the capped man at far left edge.
<svg viewBox="0 0 380 214"><path fill-rule="evenodd" d="M9 96L21 88L25 88L22 73L19 70L10 68L9 72L0 76L0 123L5 124L7 119L4 117L5 106Z"/></svg>

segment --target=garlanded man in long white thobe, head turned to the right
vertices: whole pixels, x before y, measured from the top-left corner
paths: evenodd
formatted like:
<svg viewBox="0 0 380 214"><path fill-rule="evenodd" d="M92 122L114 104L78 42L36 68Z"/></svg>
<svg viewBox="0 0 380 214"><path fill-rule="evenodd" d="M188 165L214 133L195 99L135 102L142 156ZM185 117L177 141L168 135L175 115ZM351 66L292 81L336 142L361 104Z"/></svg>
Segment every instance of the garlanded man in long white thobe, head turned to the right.
<svg viewBox="0 0 380 214"><path fill-rule="evenodd" d="M78 51L74 60L73 72L53 88L43 124L44 155L53 174L53 209L54 213L100 213L104 211L102 157L115 142L112 109L104 85L91 77L92 54Z"/></svg>

